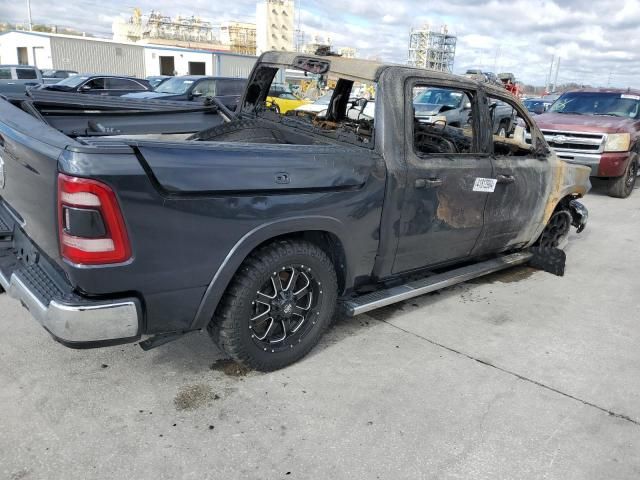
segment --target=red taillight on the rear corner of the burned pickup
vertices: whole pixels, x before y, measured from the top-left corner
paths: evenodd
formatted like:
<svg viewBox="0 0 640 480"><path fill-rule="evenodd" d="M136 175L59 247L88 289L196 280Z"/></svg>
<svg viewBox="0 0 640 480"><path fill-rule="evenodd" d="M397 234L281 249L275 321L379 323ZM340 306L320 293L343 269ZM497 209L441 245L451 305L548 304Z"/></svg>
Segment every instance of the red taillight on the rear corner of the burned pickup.
<svg viewBox="0 0 640 480"><path fill-rule="evenodd" d="M58 228L60 253L72 263L101 265L131 258L118 200L104 183L58 174Z"/></svg>

